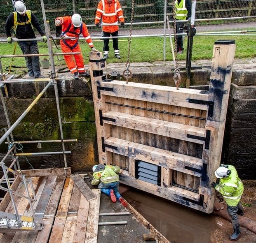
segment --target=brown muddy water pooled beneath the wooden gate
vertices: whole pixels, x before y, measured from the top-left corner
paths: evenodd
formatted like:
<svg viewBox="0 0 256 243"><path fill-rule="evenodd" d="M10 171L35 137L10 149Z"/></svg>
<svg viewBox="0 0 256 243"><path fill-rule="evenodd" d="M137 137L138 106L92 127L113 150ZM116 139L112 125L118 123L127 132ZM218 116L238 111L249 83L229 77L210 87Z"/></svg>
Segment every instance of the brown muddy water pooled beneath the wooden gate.
<svg viewBox="0 0 256 243"><path fill-rule="evenodd" d="M211 243L211 215L136 189L122 196L171 243Z"/></svg>

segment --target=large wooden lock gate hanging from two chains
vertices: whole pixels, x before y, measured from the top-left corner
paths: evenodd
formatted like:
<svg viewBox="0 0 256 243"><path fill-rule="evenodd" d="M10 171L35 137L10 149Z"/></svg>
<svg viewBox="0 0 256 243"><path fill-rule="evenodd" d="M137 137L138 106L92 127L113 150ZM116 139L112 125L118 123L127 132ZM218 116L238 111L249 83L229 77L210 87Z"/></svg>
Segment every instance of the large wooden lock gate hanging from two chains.
<svg viewBox="0 0 256 243"><path fill-rule="evenodd" d="M214 210L235 41L214 43L209 92L109 80L90 53L99 162L120 182L188 207Z"/></svg>

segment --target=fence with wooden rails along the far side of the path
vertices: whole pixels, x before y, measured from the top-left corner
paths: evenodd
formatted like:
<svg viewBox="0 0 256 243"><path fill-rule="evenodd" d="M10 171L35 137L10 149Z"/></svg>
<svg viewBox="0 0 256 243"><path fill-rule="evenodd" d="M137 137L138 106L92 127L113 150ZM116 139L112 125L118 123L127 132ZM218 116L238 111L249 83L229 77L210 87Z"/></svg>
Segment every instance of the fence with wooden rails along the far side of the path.
<svg viewBox="0 0 256 243"><path fill-rule="evenodd" d="M131 20L132 0L119 0L126 23ZM24 0L27 9L37 16L43 26L43 16L40 0ZM49 20L51 31L55 31L54 19L57 16L67 16L78 13L87 25L94 24L95 12L99 0L44 0L46 19ZM166 6L165 6L166 5ZM5 21L14 11L12 0L0 1L0 34L5 35ZM173 18L173 1L164 0L135 0L133 29L163 28L164 13ZM195 11L196 25L212 25L254 21L248 17L256 16L256 0L197 0ZM244 17L244 19L234 19ZM223 19L230 18L230 19ZM215 20L216 19L216 20ZM145 22L159 22L150 23ZM129 25L122 28L129 29ZM89 27L89 32L99 31L95 26Z"/></svg>

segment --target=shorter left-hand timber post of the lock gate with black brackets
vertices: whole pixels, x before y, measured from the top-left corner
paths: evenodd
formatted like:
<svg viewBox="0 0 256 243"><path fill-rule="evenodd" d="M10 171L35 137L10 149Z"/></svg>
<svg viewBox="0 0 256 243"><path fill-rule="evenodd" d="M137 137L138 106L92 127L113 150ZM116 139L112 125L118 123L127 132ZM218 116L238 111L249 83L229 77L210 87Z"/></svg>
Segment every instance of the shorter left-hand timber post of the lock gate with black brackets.
<svg viewBox="0 0 256 243"><path fill-rule="evenodd" d="M111 164L112 155L105 150L104 141L110 137L110 125L103 123L102 114L107 111L106 96L101 94L101 82L107 81L107 76L103 75L106 69L106 59L102 52L90 52L89 68L91 75L92 97L94 103L95 125L97 127L97 144L100 164Z"/></svg>

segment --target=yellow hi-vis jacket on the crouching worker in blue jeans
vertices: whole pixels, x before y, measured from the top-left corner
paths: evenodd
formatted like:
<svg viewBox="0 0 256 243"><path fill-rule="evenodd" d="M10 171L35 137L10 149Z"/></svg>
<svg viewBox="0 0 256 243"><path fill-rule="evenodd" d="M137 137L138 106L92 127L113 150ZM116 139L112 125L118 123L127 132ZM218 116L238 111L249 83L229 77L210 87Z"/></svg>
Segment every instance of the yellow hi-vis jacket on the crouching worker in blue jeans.
<svg viewBox="0 0 256 243"><path fill-rule="evenodd" d="M116 174L120 171L118 166L106 165L105 169L102 171L94 172L92 175L92 185L98 185L100 182L112 183L119 181L119 176Z"/></svg>

